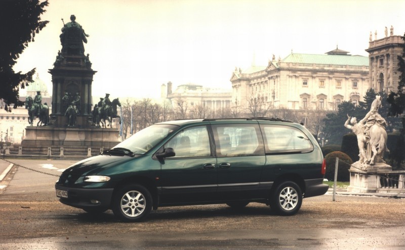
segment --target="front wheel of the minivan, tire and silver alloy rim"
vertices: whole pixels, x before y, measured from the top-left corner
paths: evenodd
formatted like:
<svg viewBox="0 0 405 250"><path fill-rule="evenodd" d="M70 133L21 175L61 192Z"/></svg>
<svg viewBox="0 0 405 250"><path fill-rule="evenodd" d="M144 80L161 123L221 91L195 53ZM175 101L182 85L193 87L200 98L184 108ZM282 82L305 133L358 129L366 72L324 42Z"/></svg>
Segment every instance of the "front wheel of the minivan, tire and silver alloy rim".
<svg viewBox="0 0 405 250"><path fill-rule="evenodd" d="M152 209L152 195L142 185L130 184L120 188L113 197L112 212L121 221L140 222Z"/></svg>

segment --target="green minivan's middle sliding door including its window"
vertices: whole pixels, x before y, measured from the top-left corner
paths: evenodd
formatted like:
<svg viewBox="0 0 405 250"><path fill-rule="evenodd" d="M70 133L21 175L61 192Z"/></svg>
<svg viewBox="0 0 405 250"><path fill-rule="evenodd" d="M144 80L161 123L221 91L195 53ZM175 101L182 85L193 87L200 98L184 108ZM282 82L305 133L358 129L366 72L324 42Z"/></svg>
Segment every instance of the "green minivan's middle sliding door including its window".
<svg viewBox="0 0 405 250"><path fill-rule="evenodd" d="M219 199L263 197L260 177L266 157L258 124L212 124L212 130L218 163Z"/></svg>

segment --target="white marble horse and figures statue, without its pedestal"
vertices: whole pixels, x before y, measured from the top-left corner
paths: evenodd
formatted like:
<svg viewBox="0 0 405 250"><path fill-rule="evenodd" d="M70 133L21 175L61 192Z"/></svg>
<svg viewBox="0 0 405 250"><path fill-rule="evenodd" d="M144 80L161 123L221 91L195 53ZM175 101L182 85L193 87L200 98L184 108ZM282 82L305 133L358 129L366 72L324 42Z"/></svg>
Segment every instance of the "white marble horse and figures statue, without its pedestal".
<svg viewBox="0 0 405 250"><path fill-rule="evenodd" d="M345 127L352 130L357 136L359 150L358 162L363 165L374 165L383 162L384 152L387 149L387 132L385 119L378 113L381 107L381 96L377 95L370 111L364 118L357 122L356 117L347 115Z"/></svg>

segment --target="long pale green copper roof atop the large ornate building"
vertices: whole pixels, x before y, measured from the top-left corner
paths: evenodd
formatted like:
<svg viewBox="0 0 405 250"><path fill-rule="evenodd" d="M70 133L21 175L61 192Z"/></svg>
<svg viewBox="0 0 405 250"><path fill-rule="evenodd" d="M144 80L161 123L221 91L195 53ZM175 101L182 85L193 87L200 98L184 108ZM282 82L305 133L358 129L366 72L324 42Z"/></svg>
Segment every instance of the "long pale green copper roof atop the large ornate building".
<svg viewBox="0 0 405 250"><path fill-rule="evenodd" d="M369 66L369 57L349 55L290 54L281 61L287 63Z"/></svg>

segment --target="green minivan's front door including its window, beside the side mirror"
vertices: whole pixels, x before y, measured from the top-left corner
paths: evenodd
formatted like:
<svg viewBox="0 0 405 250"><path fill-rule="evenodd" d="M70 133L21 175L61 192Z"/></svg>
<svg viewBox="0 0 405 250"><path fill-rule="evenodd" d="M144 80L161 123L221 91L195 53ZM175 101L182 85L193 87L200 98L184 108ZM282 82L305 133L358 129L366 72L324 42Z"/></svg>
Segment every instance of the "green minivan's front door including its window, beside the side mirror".
<svg viewBox="0 0 405 250"><path fill-rule="evenodd" d="M161 161L160 204L216 199L217 167L211 141L204 125L182 130L164 145L176 155Z"/></svg>

